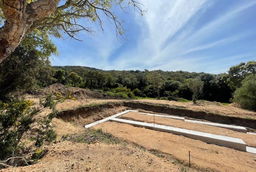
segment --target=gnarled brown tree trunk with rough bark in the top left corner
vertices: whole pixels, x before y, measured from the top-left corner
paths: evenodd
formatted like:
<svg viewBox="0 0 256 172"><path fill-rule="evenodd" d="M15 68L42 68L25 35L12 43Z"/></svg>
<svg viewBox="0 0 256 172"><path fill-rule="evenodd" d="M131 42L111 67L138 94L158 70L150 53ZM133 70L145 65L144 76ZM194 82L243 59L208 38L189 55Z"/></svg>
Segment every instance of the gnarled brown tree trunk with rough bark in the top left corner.
<svg viewBox="0 0 256 172"><path fill-rule="evenodd" d="M30 27L51 15L60 0L40 0L27 4L27 0L3 0L6 21L0 28L0 63L19 45Z"/></svg>

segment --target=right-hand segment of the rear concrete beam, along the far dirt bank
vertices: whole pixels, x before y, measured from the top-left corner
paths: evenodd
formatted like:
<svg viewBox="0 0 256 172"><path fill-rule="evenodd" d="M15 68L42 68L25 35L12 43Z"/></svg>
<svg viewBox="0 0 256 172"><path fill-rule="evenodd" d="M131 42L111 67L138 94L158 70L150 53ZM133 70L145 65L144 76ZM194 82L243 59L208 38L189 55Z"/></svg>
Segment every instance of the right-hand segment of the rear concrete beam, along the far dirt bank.
<svg viewBox="0 0 256 172"><path fill-rule="evenodd" d="M185 119L187 122L193 122L193 123L198 123L198 124L205 124L205 125L211 125L215 127L220 127L220 128L225 128L225 129L230 129L233 131L238 131L242 133L247 133L247 129L241 126L234 126L234 125L227 125L227 124L219 124L219 123L211 123L211 122L203 122L203 121L196 121L196 120L188 120Z"/></svg>

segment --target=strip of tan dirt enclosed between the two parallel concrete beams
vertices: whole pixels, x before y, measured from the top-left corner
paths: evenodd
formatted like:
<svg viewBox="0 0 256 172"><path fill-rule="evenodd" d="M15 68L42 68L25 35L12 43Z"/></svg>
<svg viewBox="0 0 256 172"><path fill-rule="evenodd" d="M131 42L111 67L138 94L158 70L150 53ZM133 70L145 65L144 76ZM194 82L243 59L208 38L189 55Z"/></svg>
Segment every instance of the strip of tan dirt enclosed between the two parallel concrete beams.
<svg viewBox="0 0 256 172"><path fill-rule="evenodd" d="M153 116L146 115L146 114L139 114L137 112L128 112L126 114L123 114L119 118L135 120L140 122L154 123ZM155 124L201 131L201 132L211 133L216 135L235 137L235 138L242 139L248 146L256 148L256 135L253 135L253 134L246 134L246 133L233 131L230 129L224 129L224 128L219 128L219 127L204 125L204 124L196 124L192 122L186 122L182 120L170 119L170 118L158 117L158 116L155 116Z"/></svg>

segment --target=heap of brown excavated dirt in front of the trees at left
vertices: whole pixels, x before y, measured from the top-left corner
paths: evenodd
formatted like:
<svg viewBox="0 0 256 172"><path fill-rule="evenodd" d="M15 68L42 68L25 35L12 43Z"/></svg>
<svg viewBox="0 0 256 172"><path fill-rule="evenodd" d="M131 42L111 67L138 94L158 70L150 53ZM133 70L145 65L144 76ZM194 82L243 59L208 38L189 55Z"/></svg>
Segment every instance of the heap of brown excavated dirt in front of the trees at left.
<svg viewBox="0 0 256 172"><path fill-rule="evenodd" d="M77 100L89 99L89 98L91 99L122 99L122 97L110 96L106 93L102 93L97 90L91 91L90 89L66 87L61 83L52 84L46 87L45 89L30 91L29 94L40 97L50 93L53 93L55 95L55 93L58 92L58 93L61 93L63 96L67 96L70 90L72 91L71 95Z"/></svg>

